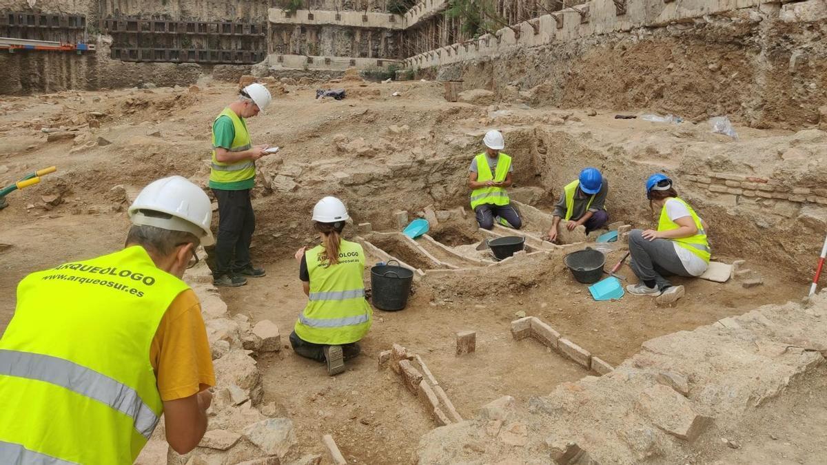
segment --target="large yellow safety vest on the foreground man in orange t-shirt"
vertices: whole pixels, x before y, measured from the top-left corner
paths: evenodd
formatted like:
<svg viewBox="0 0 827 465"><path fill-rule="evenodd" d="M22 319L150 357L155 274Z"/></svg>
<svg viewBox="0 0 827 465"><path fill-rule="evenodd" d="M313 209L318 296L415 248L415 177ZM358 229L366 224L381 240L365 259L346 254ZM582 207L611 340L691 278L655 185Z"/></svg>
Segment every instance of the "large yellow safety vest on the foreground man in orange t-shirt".
<svg viewBox="0 0 827 465"><path fill-rule="evenodd" d="M164 410L152 339L187 289L142 247L26 276L0 339L0 462L134 463Z"/></svg>

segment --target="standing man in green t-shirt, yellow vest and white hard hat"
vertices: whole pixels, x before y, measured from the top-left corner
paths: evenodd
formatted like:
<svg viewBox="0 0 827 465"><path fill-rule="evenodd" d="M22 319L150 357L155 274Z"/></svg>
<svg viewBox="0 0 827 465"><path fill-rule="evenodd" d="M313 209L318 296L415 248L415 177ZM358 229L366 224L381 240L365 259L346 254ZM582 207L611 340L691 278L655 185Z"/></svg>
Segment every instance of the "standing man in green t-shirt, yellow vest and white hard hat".
<svg viewBox="0 0 827 465"><path fill-rule="evenodd" d="M250 242L256 230L250 191L256 184L256 160L267 155L268 146L251 145L245 118L264 111L270 100L270 91L264 85L250 84L213 122L209 186L218 200L214 285L237 287L247 283L245 276L265 276L250 258Z"/></svg>

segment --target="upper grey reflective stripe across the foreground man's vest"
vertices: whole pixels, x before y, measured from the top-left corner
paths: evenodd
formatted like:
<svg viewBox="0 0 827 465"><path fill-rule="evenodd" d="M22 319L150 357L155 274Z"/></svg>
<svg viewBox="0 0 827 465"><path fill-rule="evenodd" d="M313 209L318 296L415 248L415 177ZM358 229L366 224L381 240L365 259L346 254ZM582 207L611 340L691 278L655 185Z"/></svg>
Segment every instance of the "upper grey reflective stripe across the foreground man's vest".
<svg viewBox="0 0 827 465"><path fill-rule="evenodd" d="M0 375L45 381L98 400L131 416L135 429L146 439L158 424L158 415L134 389L62 358L0 349Z"/></svg>

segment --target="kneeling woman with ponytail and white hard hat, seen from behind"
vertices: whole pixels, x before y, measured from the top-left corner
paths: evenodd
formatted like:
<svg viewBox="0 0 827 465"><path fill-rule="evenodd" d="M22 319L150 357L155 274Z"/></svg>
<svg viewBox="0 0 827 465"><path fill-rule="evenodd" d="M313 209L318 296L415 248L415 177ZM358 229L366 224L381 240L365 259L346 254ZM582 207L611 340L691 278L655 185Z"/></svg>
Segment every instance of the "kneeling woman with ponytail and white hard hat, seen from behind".
<svg viewBox="0 0 827 465"><path fill-rule="evenodd" d="M313 208L313 225L322 243L296 252L308 304L290 334L302 357L327 362L327 373L345 371L345 360L359 354L356 342L370 329L372 310L365 300L365 252L340 236L350 218L342 201L325 197Z"/></svg>

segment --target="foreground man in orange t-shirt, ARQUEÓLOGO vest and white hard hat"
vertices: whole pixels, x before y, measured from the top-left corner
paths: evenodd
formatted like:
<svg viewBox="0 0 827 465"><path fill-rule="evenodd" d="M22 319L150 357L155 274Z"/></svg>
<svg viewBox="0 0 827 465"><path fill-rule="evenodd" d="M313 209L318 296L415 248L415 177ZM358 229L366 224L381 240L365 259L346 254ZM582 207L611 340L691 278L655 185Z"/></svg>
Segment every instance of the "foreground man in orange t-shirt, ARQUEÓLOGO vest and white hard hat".
<svg viewBox="0 0 827 465"><path fill-rule="evenodd" d="M203 437L215 375L181 277L213 241L210 200L172 176L129 217L123 250L18 285L0 339L0 463L134 463L161 414L176 452Z"/></svg>

